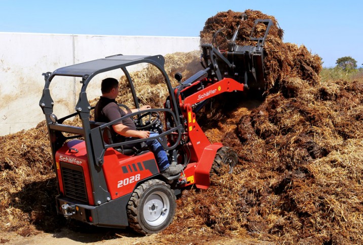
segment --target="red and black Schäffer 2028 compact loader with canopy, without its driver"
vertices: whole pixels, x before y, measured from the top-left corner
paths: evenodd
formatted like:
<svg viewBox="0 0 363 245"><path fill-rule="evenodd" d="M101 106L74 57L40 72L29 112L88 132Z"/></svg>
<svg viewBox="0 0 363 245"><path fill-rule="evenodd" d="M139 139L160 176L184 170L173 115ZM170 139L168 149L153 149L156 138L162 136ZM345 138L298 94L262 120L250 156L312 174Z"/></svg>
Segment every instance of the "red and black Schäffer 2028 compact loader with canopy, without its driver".
<svg viewBox="0 0 363 245"><path fill-rule="evenodd" d="M214 45L202 45L203 69L184 82L176 74L176 87L170 84L161 55L114 55L43 74L46 82L40 107L47 121L58 182L58 213L95 226L130 226L143 234L156 233L171 223L181 189L190 185L208 188L210 172L218 172L223 165L232 172L237 154L220 143L211 144L196 121L196 113L221 93L264 89L263 46L272 22L257 20L255 25L260 22L267 28L264 37L251 38L257 41L256 46L236 45L238 29L223 54ZM154 65L162 73L169 92L164 107L135 112L109 123L90 120L94 108L88 101L87 87L96 75L113 70L124 73L129 86L122 89L129 89L135 108L139 108L128 67L140 63ZM55 77L82 79L75 112L60 119L53 112L50 91ZM82 126L66 124L67 119L75 117ZM165 148L170 162L182 164L184 170L166 178L149 149L127 147L132 143L142 145L146 139L115 143L110 134L112 125L126 117L134 120L138 130L158 132L154 138Z"/></svg>

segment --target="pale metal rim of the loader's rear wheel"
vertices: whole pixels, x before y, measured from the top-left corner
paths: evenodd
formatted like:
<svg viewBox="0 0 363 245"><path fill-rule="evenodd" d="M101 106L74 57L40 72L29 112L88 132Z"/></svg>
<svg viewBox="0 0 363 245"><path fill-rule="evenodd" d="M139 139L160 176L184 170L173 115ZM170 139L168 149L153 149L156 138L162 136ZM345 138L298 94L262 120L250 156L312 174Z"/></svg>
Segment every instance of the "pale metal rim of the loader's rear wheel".
<svg viewBox="0 0 363 245"><path fill-rule="evenodd" d="M168 217L170 202L167 195L157 191L150 195L143 205L143 218L151 226L162 224Z"/></svg>

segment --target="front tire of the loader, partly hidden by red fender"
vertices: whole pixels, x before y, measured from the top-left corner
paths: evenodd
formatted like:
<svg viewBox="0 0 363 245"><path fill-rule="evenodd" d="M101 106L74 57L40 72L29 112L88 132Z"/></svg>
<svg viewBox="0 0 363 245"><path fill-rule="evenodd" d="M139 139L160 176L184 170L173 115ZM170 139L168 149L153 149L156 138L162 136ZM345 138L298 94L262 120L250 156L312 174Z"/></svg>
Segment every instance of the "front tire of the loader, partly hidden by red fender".
<svg viewBox="0 0 363 245"><path fill-rule="evenodd" d="M238 156L231 148L222 147L217 151L214 157L210 174L222 176L226 172L232 173L234 166L238 163Z"/></svg>

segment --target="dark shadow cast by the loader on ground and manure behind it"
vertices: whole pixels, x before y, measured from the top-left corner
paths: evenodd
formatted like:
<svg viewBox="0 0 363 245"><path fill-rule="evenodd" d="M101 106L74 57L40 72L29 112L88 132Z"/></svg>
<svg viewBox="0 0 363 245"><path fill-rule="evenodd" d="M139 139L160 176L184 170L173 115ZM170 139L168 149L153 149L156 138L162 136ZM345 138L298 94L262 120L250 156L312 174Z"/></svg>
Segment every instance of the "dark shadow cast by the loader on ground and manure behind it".
<svg viewBox="0 0 363 245"><path fill-rule="evenodd" d="M72 219L65 219L56 212L56 179L33 181L24 184L21 191L10 197L10 206L20 209L19 221L13 230L21 236L40 232L52 233L56 238L67 237L80 242L97 242L119 237L141 237L131 229L96 227Z"/></svg>

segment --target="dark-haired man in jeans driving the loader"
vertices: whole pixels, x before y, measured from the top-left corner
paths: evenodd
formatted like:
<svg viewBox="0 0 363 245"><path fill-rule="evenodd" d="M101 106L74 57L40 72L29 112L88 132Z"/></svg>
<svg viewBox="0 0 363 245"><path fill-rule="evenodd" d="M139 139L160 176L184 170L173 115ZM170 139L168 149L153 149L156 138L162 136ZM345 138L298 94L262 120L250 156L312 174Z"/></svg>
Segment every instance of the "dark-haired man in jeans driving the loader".
<svg viewBox="0 0 363 245"><path fill-rule="evenodd" d="M142 106L140 109L121 109L115 100L119 94L119 82L115 78L103 79L101 83L101 92L102 96L98 100L94 110L96 122L112 122L130 113L151 108L150 106ZM136 125L131 118L126 118L121 122L113 124L112 127L116 133L125 136L126 140L128 137L149 138L150 136L159 135L155 132L136 130ZM169 164L165 149L157 139L148 139L146 144L154 153L159 170L165 177L176 176L183 170L181 164Z"/></svg>

